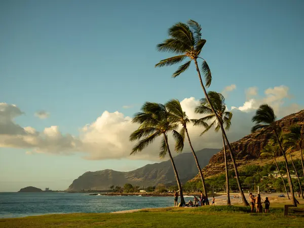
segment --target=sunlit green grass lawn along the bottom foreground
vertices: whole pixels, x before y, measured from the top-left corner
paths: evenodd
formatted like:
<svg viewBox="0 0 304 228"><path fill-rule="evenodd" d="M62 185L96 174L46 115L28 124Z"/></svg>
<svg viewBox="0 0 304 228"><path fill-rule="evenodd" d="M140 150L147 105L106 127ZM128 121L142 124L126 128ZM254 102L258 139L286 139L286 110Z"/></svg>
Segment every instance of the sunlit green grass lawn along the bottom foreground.
<svg viewBox="0 0 304 228"><path fill-rule="evenodd" d="M283 209L250 214L249 207L143 209L124 214L54 214L0 219L0 227L303 227L304 215L283 217Z"/></svg>

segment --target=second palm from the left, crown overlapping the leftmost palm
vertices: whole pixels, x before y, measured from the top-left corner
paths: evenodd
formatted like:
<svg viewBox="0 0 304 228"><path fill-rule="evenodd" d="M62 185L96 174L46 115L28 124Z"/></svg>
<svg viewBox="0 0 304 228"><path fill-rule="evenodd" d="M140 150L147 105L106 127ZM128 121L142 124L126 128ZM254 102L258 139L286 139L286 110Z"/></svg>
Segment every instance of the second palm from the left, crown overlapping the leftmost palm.
<svg viewBox="0 0 304 228"><path fill-rule="evenodd" d="M170 100L165 104L165 106L170 113L170 117L169 117L170 122L173 123L173 124L177 123L177 124L180 124L182 126L179 134L182 136L183 141L184 141L185 135L187 136L190 148L192 150L193 157L195 159L195 163L198 167L198 170L199 170L199 173L200 173L200 176L201 176L204 194L205 194L206 197L208 197L207 189L206 189L206 185L205 185L205 180L204 180L203 173L202 173L202 169L200 167L198 158L195 154L194 148L192 146L192 143L191 143L191 140L190 140L190 137L189 137L188 129L187 129L187 124L189 124L191 122L191 120L189 120L186 113L182 110L182 107L180 105L179 100L176 100L176 99Z"/></svg>

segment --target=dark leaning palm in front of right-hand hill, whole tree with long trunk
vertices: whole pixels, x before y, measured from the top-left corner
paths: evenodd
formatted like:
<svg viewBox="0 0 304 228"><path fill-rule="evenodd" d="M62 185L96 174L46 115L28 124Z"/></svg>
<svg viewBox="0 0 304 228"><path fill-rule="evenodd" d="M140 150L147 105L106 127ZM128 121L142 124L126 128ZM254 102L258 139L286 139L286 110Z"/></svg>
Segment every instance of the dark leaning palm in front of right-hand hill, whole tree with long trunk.
<svg viewBox="0 0 304 228"><path fill-rule="evenodd" d="M283 149L283 145L281 140L279 139L279 131L280 131L280 126L278 126L277 122L277 117L275 115L274 109L269 106L268 104L262 104L259 106L259 108L256 110L255 116L252 117L252 122L255 122L255 126L252 127L251 132L255 132L257 130L261 129L271 129L274 133L274 136L279 144L281 153L284 157L285 160L285 165L286 165L286 172L287 172L287 177L288 177L288 183L290 187L290 193L292 196L292 203L296 207L296 200L294 197L294 191L293 191L293 184L289 172L289 167L288 167L288 161L285 155L285 151Z"/></svg>

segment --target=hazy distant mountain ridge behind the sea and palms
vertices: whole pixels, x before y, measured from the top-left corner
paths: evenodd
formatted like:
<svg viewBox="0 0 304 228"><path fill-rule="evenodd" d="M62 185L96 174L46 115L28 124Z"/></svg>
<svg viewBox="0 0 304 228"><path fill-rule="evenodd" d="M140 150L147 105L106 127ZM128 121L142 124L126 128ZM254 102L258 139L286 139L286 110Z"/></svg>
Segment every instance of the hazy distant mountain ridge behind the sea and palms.
<svg viewBox="0 0 304 228"><path fill-rule="evenodd" d="M201 167L208 164L212 155L220 149L205 148L196 152ZM182 153L173 158L178 170L180 180L186 182L195 177L198 173L195 160L192 153ZM81 190L108 190L111 185L123 186L125 183L131 183L139 186L155 186L159 183L174 184L176 179L172 169L171 161L147 164L138 169L122 172L112 169L99 170L95 172L87 171L77 179L66 191Z"/></svg>

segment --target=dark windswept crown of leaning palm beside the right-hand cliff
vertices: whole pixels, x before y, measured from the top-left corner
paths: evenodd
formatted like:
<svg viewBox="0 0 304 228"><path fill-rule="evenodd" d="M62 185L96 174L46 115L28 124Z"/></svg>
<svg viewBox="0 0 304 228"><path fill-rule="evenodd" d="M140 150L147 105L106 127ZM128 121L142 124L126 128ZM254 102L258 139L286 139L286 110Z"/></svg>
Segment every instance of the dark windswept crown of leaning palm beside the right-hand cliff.
<svg viewBox="0 0 304 228"><path fill-rule="evenodd" d="M262 104L256 110L255 116L252 117L252 122L256 124L272 125L276 121L274 109L268 104Z"/></svg>

